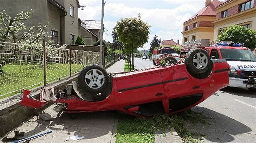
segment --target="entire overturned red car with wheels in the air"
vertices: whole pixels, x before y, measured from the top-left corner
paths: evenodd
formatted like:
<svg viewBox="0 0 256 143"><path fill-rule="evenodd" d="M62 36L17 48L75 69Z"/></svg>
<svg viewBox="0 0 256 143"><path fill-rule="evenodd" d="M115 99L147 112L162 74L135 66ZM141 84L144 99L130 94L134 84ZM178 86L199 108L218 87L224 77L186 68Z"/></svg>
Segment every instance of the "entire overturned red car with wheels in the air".
<svg viewBox="0 0 256 143"><path fill-rule="evenodd" d="M118 110L134 116L174 114L191 108L228 86L230 67L225 60L210 60L200 48L191 50L184 63L108 74L90 65L78 80L56 95L65 112ZM40 108L40 102L24 91L21 105Z"/></svg>

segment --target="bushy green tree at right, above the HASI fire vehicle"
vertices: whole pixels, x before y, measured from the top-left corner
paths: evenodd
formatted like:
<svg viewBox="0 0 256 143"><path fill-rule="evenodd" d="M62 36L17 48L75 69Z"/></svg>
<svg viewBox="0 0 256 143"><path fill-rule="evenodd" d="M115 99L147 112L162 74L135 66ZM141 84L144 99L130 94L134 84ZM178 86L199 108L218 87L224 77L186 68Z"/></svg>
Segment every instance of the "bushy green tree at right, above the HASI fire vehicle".
<svg viewBox="0 0 256 143"><path fill-rule="evenodd" d="M245 47L254 50L256 47L256 31L245 26L230 25L230 27L223 29L218 36L218 41L244 43Z"/></svg>

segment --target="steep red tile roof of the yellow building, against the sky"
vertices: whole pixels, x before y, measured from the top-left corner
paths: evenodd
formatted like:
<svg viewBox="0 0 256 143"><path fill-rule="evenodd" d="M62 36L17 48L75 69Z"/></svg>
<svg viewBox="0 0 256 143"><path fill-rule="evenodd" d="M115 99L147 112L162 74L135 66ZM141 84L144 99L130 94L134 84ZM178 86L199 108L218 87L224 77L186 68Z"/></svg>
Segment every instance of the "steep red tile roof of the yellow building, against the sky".
<svg viewBox="0 0 256 143"><path fill-rule="evenodd" d="M213 0L210 4L208 4L208 6L202 8L200 11L198 11L197 13L195 13L195 15L193 15L189 20L190 21L200 15L203 16L216 16L216 11L215 11L215 7L217 5L220 5L222 2L220 2L219 0ZM187 21L185 21L184 23L186 23Z"/></svg>

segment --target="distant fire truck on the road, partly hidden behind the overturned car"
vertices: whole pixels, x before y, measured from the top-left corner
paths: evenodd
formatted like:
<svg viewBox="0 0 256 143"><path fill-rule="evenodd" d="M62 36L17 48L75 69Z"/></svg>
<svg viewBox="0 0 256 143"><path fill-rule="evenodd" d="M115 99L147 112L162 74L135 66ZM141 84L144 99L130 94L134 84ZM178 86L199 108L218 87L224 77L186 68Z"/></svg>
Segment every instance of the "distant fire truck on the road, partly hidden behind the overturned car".
<svg viewBox="0 0 256 143"><path fill-rule="evenodd" d="M180 55L177 53L174 47L165 47L165 48L161 48L159 50L153 51L153 55L152 55L153 65L160 65L160 60L165 53L170 57L173 57L176 61L180 60Z"/></svg>

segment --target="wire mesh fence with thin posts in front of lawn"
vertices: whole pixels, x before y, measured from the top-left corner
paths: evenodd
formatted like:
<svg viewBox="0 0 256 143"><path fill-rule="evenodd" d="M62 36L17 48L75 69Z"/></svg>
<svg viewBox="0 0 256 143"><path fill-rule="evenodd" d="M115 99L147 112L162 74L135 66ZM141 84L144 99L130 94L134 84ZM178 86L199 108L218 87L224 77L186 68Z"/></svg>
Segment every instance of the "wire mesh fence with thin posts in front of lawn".
<svg viewBox="0 0 256 143"><path fill-rule="evenodd" d="M99 56L91 51L46 47L44 52L43 46L0 42L0 99L71 76L85 65L98 65Z"/></svg>

